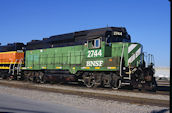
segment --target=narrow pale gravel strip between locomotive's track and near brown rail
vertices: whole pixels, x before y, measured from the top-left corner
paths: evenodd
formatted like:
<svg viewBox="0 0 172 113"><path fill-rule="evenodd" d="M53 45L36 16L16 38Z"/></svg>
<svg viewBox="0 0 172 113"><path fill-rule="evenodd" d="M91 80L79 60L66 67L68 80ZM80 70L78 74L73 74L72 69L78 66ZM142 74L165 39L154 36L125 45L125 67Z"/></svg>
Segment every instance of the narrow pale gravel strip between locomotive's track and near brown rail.
<svg viewBox="0 0 172 113"><path fill-rule="evenodd" d="M21 81L6 81L1 80L0 85L9 85L9 86L23 86L24 88L33 87L33 89L54 89L54 90L64 90L64 91L76 91L78 93L96 93L96 94L104 94L104 95L112 95L112 96L124 96L124 97L133 97L133 98L142 98L142 99L154 99L154 100L165 100L169 101L169 95L161 95L156 93L143 93L143 92L131 92L131 91L120 91L120 90L102 90L102 89L93 89L86 87L73 87L73 86L65 86L59 84L33 84L29 82L21 82Z"/></svg>

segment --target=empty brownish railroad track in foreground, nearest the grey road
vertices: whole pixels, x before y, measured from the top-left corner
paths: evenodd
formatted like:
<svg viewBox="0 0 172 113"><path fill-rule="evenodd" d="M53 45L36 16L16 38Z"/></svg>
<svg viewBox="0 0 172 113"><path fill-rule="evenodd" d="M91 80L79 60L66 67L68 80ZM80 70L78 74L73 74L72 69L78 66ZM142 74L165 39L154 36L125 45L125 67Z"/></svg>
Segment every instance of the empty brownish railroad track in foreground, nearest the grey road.
<svg viewBox="0 0 172 113"><path fill-rule="evenodd" d="M141 105L169 106L169 95L132 92L124 90L110 90L105 88L90 89L82 86L69 86L57 84L34 84L21 81L0 80L1 86L14 88L32 89L63 94L79 95L84 97L122 101Z"/></svg>

